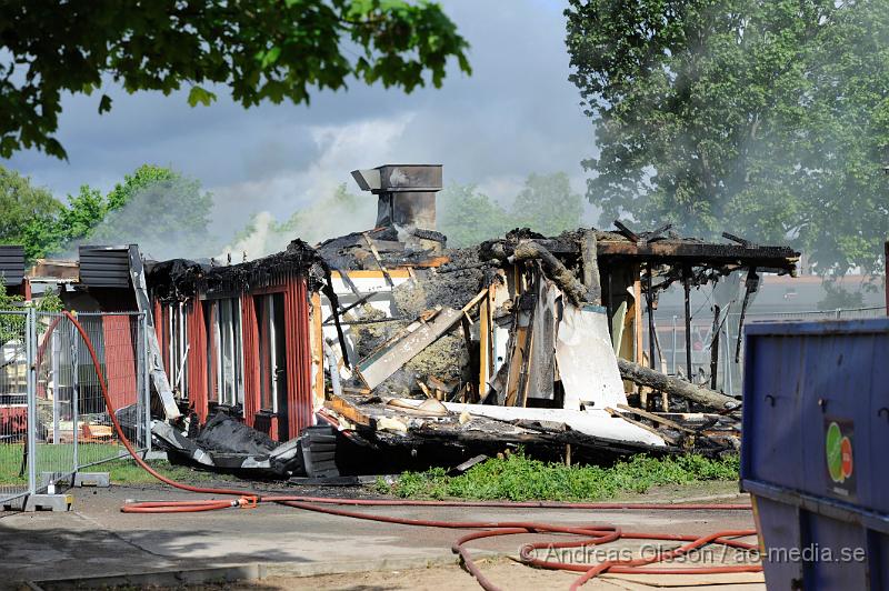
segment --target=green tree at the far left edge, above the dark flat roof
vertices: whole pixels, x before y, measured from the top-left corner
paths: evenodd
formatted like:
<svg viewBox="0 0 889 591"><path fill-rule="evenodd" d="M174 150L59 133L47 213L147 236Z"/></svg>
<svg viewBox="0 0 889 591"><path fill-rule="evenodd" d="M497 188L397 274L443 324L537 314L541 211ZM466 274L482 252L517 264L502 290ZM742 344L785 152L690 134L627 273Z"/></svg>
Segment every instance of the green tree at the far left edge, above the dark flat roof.
<svg viewBox="0 0 889 591"><path fill-rule="evenodd" d="M0 243L24 244L29 249L29 227L49 224L62 211L62 204L49 190L34 187L31 179L0 166Z"/></svg>

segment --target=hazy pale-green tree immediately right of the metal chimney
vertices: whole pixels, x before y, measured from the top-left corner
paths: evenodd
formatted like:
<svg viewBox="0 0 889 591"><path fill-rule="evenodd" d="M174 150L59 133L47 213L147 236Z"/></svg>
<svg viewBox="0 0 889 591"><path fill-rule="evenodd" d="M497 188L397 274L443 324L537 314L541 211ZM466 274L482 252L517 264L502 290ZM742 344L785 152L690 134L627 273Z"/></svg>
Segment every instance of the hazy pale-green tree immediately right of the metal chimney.
<svg viewBox="0 0 889 591"><path fill-rule="evenodd" d="M515 223L507 211L475 184L449 184L438 196L438 229L449 247L468 247L502 236Z"/></svg>

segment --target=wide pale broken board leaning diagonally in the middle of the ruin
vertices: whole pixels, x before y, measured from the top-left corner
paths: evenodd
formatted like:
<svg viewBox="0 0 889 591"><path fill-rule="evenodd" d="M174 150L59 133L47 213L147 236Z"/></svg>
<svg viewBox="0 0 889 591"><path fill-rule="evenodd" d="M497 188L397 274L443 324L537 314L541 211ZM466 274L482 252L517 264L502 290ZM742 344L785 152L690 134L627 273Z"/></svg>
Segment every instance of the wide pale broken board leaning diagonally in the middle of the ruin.
<svg viewBox="0 0 889 591"><path fill-rule="evenodd" d="M463 312L443 308L430 321L416 321L407 328L408 334L361 360L356 370L364 384L373 390L404 363L432 344L461 318Z"/></svg>

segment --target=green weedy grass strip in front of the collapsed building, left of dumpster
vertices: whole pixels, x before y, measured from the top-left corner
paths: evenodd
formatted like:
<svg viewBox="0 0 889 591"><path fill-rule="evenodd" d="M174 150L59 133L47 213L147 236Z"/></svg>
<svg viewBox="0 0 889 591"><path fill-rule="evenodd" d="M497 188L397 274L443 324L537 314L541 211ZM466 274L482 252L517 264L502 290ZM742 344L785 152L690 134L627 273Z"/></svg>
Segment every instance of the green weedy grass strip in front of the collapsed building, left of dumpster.
<svg viewBox="0 0 889 591"><path fill-rule="evenodd" d="M737 454L717 460L689 454L661 459L637 455L608 468L567 467L519 451L486 460L456 477L447 475L441 468L404 472L391 485L378 481L376 489L402 499L598 501L627 492L642 493L657 485L738 480L739 464Z"/></svg>

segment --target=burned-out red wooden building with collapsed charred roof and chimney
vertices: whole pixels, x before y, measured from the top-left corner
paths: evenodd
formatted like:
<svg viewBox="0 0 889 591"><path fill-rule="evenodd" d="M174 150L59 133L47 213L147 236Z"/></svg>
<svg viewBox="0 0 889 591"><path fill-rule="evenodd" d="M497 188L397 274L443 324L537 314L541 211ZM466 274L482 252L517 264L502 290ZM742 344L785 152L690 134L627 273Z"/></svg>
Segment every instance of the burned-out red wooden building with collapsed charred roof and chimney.
<svg viewBox="0 0 889 591"><path fill-rule="evenodd" d="M157 423L194 435L221 410L268 441L328 424L366 450L414 454L516 443L582 458L737 442L739 401L666 374L651 310L671 284L688 301L732 273L749 294L760 273L792 274L798 253L620 222L449 249L436 229L440 166L352 176L378 200L373 228L314 247L296 239L240 264L142 261L134 247L126 261L81 252L81 283L119 283L87 286L99 305L124 290L150 313ZM713 363L725 349L712 348Z"/></svg>

